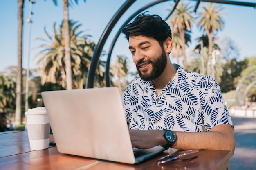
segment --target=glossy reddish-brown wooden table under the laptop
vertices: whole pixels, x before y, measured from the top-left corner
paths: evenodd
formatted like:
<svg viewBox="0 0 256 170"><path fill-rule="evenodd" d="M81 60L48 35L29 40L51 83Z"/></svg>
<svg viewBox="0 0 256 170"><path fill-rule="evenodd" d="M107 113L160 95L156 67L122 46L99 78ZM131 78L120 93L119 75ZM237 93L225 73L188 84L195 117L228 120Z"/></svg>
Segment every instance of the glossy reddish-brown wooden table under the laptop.
<svg viewBox="0 0 256 170"><path fill-rule="evenodd" d="M45 150L30 150L26 131L0 133L0 170L227 170L231 151L200 150L193 154L198 156L196 159L157 165L156 159L164 155L167 153L129 165L62 154L56 146L49 146Z"/></svg>

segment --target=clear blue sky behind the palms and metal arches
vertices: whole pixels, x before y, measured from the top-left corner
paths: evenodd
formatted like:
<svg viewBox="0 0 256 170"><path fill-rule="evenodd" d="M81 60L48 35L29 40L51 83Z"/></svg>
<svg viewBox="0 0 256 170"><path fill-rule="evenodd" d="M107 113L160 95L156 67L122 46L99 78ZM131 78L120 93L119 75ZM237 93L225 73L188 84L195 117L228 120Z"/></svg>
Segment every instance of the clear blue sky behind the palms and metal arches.
<svg viewBox="0 0 256 170"><path fill-rule="evenodd" d="M144 7L144 5L154 2L155 0L137 0L121 17L117 22L113 31L110 33L110 37L106 41L103 48L108 52L109 44L112 42L113 36L120 26L132 15L135 11ZM184 3L189 3L191 6L195 6L195 1L182 0ZM256 2L256 0L245 0L246 2ZM25 0L24 6L24 25L23 25L23 67L27 68L28 58L29 67L36 68L36 62L34 55L37 54L40 49L36 48L43 41L35 40L36 37L42 37L47 39L44 33L44 27L50 35L53 35L53 24L56 22L56 28L61 24L63 20L63 4L62 0L57 0L58 6L54 6L52 0L36 0L33 5L32 25L31 25L31 51L30 57L28 56L28 42L29 42L29 23L26 22L26 18L29 17L29 1ZM70 19L79 21L82 24L80 30L84 31L84 34L91 35L91 41L99 41L104 29L112 16L121 7L125 0L79 0L78 5L74 4L70 8ZM162 2L157 4L146 11L150 14L158 14L162 18L166 18L169 11L172 9L173 0ZM205 2L201 2L201 5L205 6ZM229 37L234 41L240 52L240 59L256 55L256 9L253 7L241 7L236 5L222 4L223 11L226 13L223 15L225 21L225 27L222 31L217 33L219 39ZM198 12L200 8L198 8ZM18 64L18 0L0 0L0 71L3 71L10 65ZM193 26L191 34L192 44L190 44L191 51L195 47L196 38L202 35L195 26ZM123 35L119 36L119 39L112 52L112 59L117 55L125 55L130 61L131 55L128 50L128 42L124 39ZM188 58L189 58L188 54ZM172 62L176 60L171 58ZM131 65L132 67L133 65Z"/></svg>

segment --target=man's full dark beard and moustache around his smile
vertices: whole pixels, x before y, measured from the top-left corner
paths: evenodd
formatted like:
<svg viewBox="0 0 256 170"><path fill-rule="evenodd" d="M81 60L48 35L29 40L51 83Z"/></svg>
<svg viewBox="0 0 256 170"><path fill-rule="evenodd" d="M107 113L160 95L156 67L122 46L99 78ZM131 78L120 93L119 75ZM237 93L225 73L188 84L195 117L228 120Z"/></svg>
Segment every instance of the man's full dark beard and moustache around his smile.
<svg viewBox="0 0 256 170"><path fill-rule="evenodd" d="M139 61L138 64L144 63L144 62L145 62L144 60ZM142 74L141 71L139 70L139 67L136 65L136 68L138 70L138 73L141 79L144 81L152 81L158 78L164 72L164 69L167 65L167 57L166 57L166 54L164 53L164 50L162 50L162 54L159 57L157 57L155 61L148 59L146 62L149 62L152 64L152 71L149 74Z"/></svg>

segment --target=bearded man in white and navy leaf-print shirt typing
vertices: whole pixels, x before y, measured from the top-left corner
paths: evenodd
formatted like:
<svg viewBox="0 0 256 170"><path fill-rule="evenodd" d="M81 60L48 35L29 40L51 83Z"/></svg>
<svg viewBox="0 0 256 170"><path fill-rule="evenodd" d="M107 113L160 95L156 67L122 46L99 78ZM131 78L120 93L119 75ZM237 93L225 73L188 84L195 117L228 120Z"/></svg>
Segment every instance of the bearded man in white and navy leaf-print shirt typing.
<svg viewBox="0 0 256 170"><path fill-rule="evenodd" d="M122 33L140 76L122 96L132 146L234 153L234 127L219 85L210 76L171 63L168 24L144 13Z"/></svg>

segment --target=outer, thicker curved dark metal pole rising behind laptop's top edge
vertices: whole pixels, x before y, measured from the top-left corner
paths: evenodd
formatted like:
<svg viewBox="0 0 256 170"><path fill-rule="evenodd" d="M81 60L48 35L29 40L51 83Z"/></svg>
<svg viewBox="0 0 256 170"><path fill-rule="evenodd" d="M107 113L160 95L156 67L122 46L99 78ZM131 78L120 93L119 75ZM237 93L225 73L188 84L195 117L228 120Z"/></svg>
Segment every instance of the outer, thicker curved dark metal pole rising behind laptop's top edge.
<svg viewBox="0 0 256 170"><path fill-rule="evenodd" d="M103 46L112 31L112 28L114 28L115 24L117 21L120 19L120 17L124 14L126 9L128 9L136 0L127 0L124 2L124 4L119 8L119 10L115 13L115 15L112 17L108 25L106 26L103 34L101 35L99 42L94 49L94 53L91 59L91 64L90 68L88 70L88 75L87 75L87 82L86 82L86 88L93 88L94 84L94 74L96 72L98 62L99 62L99 56L101 54L101 51L103 49Z"/></svg>

